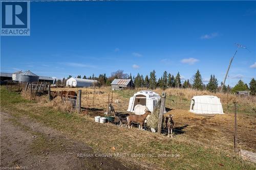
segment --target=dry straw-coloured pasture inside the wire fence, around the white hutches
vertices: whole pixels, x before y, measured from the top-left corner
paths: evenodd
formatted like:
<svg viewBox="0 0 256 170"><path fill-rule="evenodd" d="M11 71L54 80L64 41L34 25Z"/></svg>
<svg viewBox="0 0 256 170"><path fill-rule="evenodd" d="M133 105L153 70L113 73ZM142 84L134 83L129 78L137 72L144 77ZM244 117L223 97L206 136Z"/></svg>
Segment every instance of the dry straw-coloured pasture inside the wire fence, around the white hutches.
<svg viewBox="0 0 256 170"><path fill-rule="evenodd" d="M82 90L83 114L90 116L103 115L108 108L108 101L113 95L113 105L117 112L126 112L129 99L141 89L113 91L110 87L94 88L52 88L52 91ZM161 89L154 90L161 94ZM238 148L256 152L256 108L254 98L240 98L235 95L210 93L193 89L167 89L166 108L172 109L167 114L175 114L175 138L195 139L198 143L212 147L232 150L234 111L233 101L238 102ZM198 116L190 113L190 99L194 95L216 95L221 99L224 115L214 117ZM94 102L93 102L94 99ZM58 100L58 99L55 99ZM115 103L117 102L118 103ZM228 105L227 105L228 101ZM227 110L228 106L228 110Z"/></svg>

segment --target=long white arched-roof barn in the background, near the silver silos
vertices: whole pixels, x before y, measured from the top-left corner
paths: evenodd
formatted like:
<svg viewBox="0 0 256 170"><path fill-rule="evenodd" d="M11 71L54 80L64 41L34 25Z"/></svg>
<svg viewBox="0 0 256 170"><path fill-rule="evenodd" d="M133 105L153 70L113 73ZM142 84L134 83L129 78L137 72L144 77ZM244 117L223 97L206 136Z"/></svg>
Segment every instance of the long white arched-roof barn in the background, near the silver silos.
<svg viewBox="0 0 256 170"><path fill-rule="evenodd" d="M90 79L79 79L79 78L70 78L66 82L66 86L70 87L90 87L93 86L95 83L98 83L97 80L90 80Z"/></svg>

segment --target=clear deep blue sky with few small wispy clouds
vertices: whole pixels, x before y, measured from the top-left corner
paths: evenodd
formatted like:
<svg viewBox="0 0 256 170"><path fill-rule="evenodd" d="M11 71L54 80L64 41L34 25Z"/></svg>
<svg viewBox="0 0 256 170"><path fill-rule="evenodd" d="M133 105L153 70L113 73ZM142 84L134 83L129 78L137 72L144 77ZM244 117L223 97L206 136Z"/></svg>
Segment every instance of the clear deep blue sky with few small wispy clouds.
<svg viewBox="0 0 256 170"><path fill-rule="evenodd" d="M31 36L1 37L1 71L57 78L164 70L256 77L256 2L31 2Z"/></svg>

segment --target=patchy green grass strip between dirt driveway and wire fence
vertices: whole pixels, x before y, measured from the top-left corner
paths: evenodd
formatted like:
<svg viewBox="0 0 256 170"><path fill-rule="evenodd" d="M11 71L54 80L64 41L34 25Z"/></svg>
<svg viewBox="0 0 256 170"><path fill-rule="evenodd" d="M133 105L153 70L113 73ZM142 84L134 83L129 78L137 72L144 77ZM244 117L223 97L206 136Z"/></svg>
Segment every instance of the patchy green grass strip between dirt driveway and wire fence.
<svg viewBox="0 0 256 170"><path fill-rule="evenodd" d="M117 93L130 97L131 91ZM23 99L18 93L8 92L4 87L1 87L1 110L11 113L17 119L19 116L36 119L38 122L62 131L64 134L90 145L95 150L99 149L103 153L179 155L177 158L172 156L123 158L129 159L129 161L143 162L149 166L166 169L256 168L255 164L243 161L227 151L223 152L205 145L196 145L189 139L182 140L182 137L169 139L163 135L138 129L125 129L112 124L97 124L87 116L60 112L40 106L35 102ZM44 148L45 143L44 138L39 138L37 147ZM117 148L115 151L111 151L113 146Z"/></svg>

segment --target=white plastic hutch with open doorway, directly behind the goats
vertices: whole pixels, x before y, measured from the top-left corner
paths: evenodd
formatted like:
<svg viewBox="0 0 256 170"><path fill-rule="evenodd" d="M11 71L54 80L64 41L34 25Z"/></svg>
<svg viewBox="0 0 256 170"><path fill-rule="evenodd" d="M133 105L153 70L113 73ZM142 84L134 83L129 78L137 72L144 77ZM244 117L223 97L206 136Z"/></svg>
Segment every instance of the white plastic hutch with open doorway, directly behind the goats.
<svg viewBox="0 0 256 170"><path fill-rule="evenodd" d="M135 93L129 101L129 106L127 111L135 112L136 105L146 106L149 111L153 112L157 105L157 102L161 99L160 95L154 91L141 90ZM166 113L164 108L164 113ZM135 112L135 114L144 114L144 112Z"/></svg>

